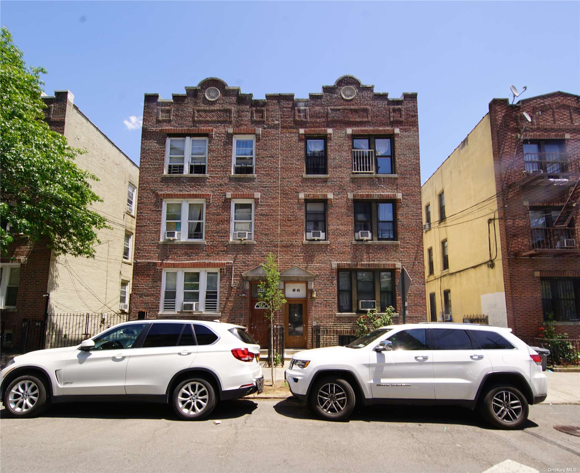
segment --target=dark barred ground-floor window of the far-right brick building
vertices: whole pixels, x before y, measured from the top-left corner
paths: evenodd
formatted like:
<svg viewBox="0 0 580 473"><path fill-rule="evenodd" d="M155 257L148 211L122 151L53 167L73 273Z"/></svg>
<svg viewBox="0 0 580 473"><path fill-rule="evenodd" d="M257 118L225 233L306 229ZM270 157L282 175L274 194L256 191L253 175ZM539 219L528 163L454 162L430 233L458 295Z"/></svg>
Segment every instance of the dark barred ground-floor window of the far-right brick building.
<svg viewBox="0 0 580 473"><path fill-rule="evenodd" d="M544 320L552 314L557 322L580 320L580 278L541 278Z"/></svg>

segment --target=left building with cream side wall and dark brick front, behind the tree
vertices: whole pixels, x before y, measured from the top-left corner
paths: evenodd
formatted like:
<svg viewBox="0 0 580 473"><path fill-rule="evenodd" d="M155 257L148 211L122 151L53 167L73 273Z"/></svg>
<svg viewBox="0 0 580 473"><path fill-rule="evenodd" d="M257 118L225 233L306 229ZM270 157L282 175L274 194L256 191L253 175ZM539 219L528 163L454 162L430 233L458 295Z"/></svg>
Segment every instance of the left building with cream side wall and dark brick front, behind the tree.
<svg viewBox="0 0 580 473"><path fill-rule="evenodd" d="M64 134L69 145L86 150L75 163L99 178L90 185L103 202L95 202L92 209L102 214L111 228L97 231L102 244L96 246L94 259L55 256L46 242L30 242L14 235L9 257L0 263L2 347L13 350L24 341L20 337L25 330L21 329L23 321L34 322L29 329L36 340L28 340L21 348L38 348L35 344L39 343L46 313L92 312L103 322L103 313L128 311L133 272L139 167L79 110L71 92L56 90L54 96L43 96L42 100L47 105L45 117L50 129ZM71 325L71 320L66 323ZM55 336L71 337L70 327L55 324L51 329ZM96 325L98 331L99 323ZM77 332L78 336L85 332L86 338L86 330Z"/></svg>

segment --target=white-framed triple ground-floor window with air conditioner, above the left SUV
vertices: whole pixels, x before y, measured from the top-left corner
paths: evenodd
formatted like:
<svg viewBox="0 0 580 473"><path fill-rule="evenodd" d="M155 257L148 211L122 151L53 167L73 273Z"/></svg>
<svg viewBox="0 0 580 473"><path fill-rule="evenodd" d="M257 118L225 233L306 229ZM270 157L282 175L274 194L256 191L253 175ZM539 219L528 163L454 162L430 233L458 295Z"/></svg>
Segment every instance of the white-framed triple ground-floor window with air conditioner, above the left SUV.
<svg viewBox="0 0 580 473"><path fill-rule="evenodd" d="M219 271L167 269L162 279L162 312L218 312Z"/></svg>

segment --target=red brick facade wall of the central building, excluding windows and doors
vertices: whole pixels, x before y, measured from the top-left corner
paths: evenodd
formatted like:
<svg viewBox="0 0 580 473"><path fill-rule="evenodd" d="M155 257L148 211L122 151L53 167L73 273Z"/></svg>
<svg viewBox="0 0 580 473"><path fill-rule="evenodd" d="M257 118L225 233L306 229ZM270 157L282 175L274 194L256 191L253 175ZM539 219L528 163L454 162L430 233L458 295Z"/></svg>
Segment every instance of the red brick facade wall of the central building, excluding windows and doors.
<svg viewBox="0 0 580 473"><path fill-rule="evenodd" d="M346 86L350 87L344 89ZM219 90L217 100L206 98L208 88ZM311 93L309 99L266 94L265 100L254 100L252 94L241 93L215 78L186 88L186 92L174 94L173 100L161 100L157 94L145 96L133 317L139 311L153 316L160 312L162 268L204 267L202 262L213 261L227 262L220 269L220 319L248 325L250 289L242 273L274 252L281 271L297 265L314 274L307 290L308 333L313 322L330 325L354 321L354 315L337 315L337 268L343 264L394 268L394 283L400 277L401 265L405 267L413 279L407 320L425 320L415 93L389 99L386 93L375 93L373 86L362 85L351 76L323 86L322 93ZM237 133L256 136L255 172L249 176L232 174L233 137ZM362 134L391 138L393 173L364 176L367 179L353 174L352 138ZM208 137L207 176L164 176L168 136ZM305 173L305 137L309 136L326 139L327 174L313 177ZM207 196L205 243L160 241L164 196L189 194ZM255 202L253 242L230 242L231 199L235 198ZM309 199L327 203L328 241L305 241L305 202ZM353 202L357 199L394 202L396 242L354 243ZM311 297L312 289L316 299ZM401 311L398 294L396 310ZM191 317L191 313L171 315ZM282 312L278 316L281 321Z"/></svg>

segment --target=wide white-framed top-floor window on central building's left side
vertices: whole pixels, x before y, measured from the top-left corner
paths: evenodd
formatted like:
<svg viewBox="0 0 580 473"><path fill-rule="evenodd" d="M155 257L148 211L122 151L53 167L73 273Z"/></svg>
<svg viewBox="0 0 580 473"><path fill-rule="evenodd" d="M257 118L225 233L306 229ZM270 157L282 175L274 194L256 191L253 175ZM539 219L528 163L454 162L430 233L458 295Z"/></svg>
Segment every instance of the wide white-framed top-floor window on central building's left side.
<svg viewBox="0 0 580 473"><path fill-rule="evenodd" d="M204 137L168 138L166 145L167 174L206 174L208 139Z"/></svg>

